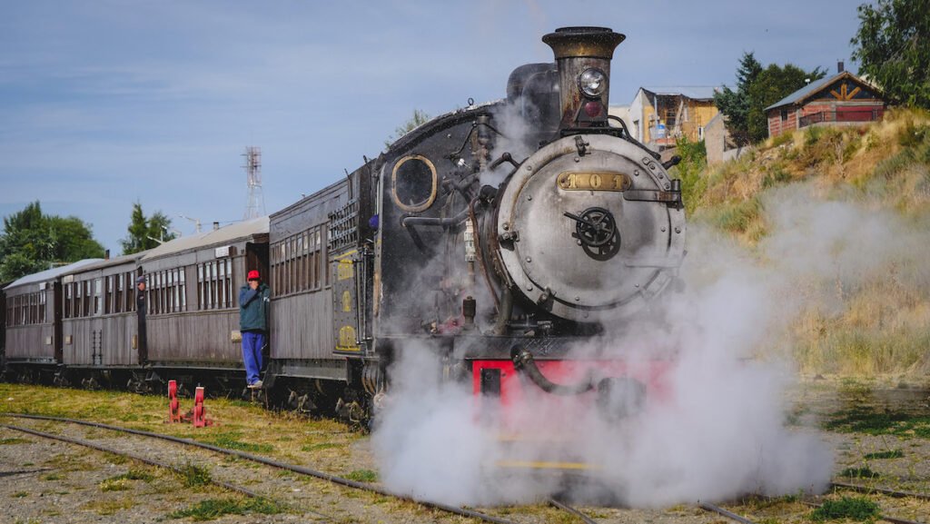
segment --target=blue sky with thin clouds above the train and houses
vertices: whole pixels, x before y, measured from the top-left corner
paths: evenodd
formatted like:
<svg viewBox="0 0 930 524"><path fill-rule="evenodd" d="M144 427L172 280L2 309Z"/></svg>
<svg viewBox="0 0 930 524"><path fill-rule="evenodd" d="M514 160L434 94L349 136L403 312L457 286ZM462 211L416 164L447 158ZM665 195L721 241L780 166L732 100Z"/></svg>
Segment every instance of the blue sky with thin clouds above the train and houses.
<svg viewBox="0 0 930 524"><path fill-rule="evenodd" d="M515 67L552 61L540 38L558 27L626 34L612 105L641 86L732 86L746 51L856 72L860 3L7 1L0 216L39 200L116 255L139 202L191 235L243 219L247 146L272 213L377 156L414 109L504 98Z"/></svg>

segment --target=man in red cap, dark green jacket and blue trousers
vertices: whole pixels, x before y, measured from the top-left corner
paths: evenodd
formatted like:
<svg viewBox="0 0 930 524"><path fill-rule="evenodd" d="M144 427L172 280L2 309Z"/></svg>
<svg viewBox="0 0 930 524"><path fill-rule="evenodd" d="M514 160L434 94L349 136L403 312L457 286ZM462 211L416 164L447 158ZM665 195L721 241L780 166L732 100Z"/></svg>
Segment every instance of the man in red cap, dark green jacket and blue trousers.
<svg viewBox="0 0 930 524"><path fill-rule="evenodd" d="M242 360L246 365L246 383L260 388L261 348L268 332L268 307L272 290L261 281L259 272L248 272L248 283L239 289L239 330L242 332Z"/></svg>

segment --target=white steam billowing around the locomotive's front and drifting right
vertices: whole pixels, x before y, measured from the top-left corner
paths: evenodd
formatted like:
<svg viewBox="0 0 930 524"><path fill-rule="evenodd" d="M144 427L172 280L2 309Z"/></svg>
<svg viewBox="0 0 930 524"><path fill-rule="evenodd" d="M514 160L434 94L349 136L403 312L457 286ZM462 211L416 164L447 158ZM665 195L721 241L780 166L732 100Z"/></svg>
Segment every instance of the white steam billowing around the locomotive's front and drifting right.
<svg viewBox="0 0 930 524"><path fill-rule="evenodd" d="M838 308L837 285L855 289L894 264L896 278L930 287L920 224L857 204L826 201L811 186L764 199L767 235L754 249L692 224L680 276L644 317L617 327L578 355L622 357L634 376L658 372L644 410L605 422L592 396L554 399L524 383L525 412L489 412L472 383L426 347L407 346L393 371L391 401L373 436L392 490L447 504L512 504L564 488L556 477L508 474L499 461L594 464L573 494L633 506L721 501L745 493L824 490L832 452L813 428L787 427L795 380L790 326L805 307ZM837 284L839 282L839 284ZM578 366L611 376L607 366ZM587 413L587 414L582 414ZM518 443L498 425L515 422Z"/></svg>

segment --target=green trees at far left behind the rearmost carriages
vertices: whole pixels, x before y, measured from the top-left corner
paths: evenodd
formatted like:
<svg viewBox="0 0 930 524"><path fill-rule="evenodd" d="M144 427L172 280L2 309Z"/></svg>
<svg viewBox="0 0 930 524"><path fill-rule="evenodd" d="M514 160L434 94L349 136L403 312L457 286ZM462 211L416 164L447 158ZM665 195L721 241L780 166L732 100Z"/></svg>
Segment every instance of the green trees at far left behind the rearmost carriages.
<svg viewBox="0 0 930 524"><path fill-rule="evenodd" d="M88 224L77 217L45 215L38 201L5 217L3 223L0 282L104 254Z"/></svg>

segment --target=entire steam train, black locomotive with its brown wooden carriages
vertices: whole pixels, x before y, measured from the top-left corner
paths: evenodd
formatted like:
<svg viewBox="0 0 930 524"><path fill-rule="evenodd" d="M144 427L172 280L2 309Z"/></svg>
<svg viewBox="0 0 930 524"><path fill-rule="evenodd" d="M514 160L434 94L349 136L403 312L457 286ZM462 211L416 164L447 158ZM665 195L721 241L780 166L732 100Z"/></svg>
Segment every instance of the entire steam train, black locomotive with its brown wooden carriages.
<svg viewBox="0 0 930 524"><path fill-rule="evenodd" d="M634 367L591 341L677 278L685 222L672 163L608 115L624 38L546 34L555 60L514 70L506 99L432 119L270 217L20 278L4 289L7 378L242 390L237 291L258 269L264 393L294 408L364 419L427 353L495 410L638 409L661 360Z"/></svg>

